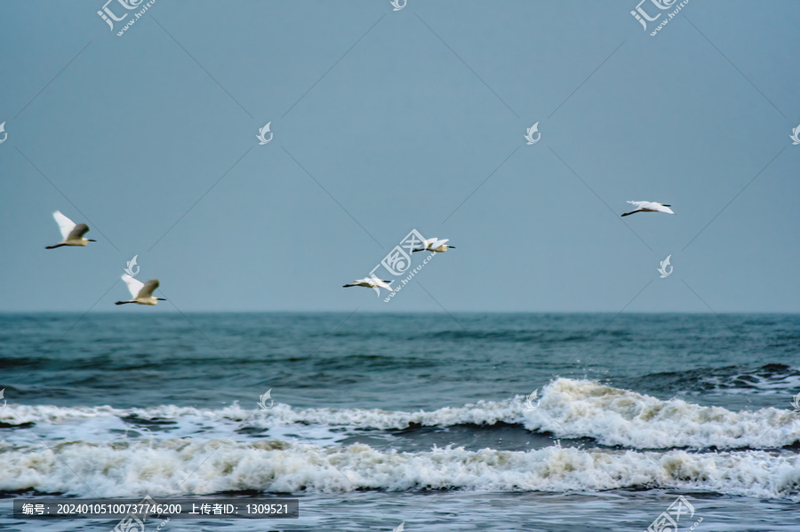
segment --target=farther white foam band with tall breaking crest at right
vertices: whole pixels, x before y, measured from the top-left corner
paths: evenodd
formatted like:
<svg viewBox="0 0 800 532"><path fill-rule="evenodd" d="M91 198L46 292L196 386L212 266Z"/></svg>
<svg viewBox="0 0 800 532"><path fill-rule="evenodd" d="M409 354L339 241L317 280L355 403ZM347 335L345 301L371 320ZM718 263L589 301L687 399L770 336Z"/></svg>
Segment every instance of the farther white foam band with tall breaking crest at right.
<svg viewBox="0 0 800 532"><path fill-rule="evenodd" d="M787 406L788 406L787 397ZM719 407L702 407L686 401L663 401L642 393L601 385L596 381L559 378L542 389L538 409L527 411L524 396L506 401L477 401L462 407L431 411L391 411L383 409L292 409L285 404L260 411L237 404L222 409L196 409L172 405L148 409L103 407L54 407L8 405L0 410L6 423L35 422L37 431L47 437L91 440L87 433L124 429L121 417L142 420L175 421L172 429L153 433L157 438L191 436L193 439L228 436L242 426L269 429L270 436L297 433L302 437L334 441L347 434L330 428L403 429L409 425L494 425L498 422L522 424L531 431L549 431L558 438L590 437L605 445L634 449L675 447L718 449L776 449L800 441L800 414L786 408L766 408L734 412ZM62 427L60 430L58 427ZM79 430L84 427L85 430ZM89 430L88 427L96 427ZM24 431L13 431L9 441L22 438ZM149 436L149 435L148 435ZM107 438L100 438L100 441Z"/></svg>

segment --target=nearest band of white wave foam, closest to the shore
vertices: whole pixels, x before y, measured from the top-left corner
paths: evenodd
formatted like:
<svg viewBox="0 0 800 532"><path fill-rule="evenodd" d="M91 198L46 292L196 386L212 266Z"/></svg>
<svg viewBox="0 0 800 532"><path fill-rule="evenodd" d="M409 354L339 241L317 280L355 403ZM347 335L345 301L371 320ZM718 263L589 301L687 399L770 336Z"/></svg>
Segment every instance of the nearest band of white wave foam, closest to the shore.
<svg viewBox="0 0 800 532"><path fill-rule="evenodd" d="M58 457L54 452L58 453ZM670 488L800 501L800 457L740 451L320 449L281 441L168 440L118 446L75 442L0 449L0 490L77 496L177 496L220 491L581 491ZM82 479L82 480L79 480Z"/></svg>

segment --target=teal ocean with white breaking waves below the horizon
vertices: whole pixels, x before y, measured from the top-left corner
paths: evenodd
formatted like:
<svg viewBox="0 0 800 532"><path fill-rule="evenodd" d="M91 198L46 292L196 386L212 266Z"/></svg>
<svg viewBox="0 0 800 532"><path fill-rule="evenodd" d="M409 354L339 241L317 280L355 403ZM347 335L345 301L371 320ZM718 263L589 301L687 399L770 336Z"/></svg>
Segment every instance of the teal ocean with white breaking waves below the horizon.
<svg viewBox="0 0 800 532"><path fill-rule="evenodd" d="M681 531L800 530L800 315L144 310L0 314L0 530L145 495L300 500L164 532L643 531L678 496Z"/></svg>

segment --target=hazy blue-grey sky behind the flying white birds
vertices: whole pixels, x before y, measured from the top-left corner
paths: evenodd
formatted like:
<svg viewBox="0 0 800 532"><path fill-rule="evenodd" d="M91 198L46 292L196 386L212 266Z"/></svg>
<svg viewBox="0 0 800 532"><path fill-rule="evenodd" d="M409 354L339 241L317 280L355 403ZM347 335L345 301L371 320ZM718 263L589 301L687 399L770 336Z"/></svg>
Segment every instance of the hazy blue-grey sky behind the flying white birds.
<svg viewBox="0 0 800 532"><path fill-rule="evenodd" d="M800 312L797 2L125 1L0 4L0 312Z"/></svg>

